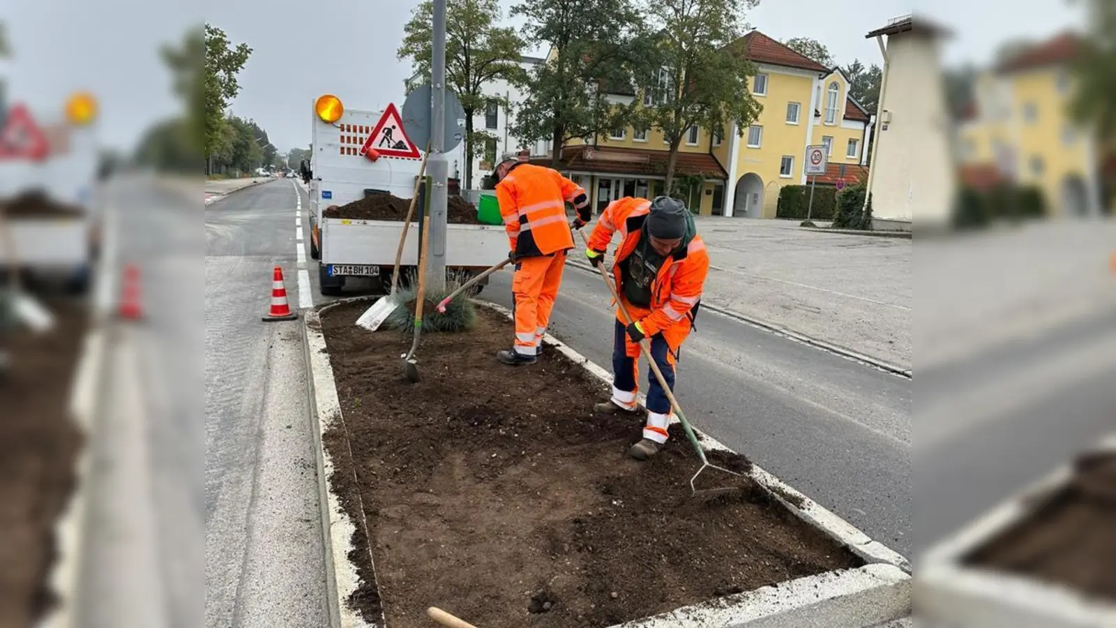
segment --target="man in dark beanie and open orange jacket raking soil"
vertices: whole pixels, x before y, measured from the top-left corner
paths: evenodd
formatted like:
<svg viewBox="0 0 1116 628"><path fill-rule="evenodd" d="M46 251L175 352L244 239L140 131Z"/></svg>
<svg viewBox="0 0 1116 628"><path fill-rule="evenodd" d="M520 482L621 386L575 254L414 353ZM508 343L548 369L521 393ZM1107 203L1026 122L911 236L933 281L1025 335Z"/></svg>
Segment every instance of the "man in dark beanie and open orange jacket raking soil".
<svg viewBox="0 0 1116 628"><path fill-rule="evenodd" d="M709 275L709 253L694 227L693 216L682 201L668 197L653 201L626 197L613 201L593 229L585 251L594 266L599 267L604 261L616 231L620 234L620 244L612 272L616 293L633 322L625 324L617 308L613 396L593 409L634 416L639 411L637 343L651 339L651 355L673 391L679 350L693 329ZM646 460L662 448L671 421L666 393L654 373L647 379L643 439L628 449L628 455L637 460Z"/></svg>

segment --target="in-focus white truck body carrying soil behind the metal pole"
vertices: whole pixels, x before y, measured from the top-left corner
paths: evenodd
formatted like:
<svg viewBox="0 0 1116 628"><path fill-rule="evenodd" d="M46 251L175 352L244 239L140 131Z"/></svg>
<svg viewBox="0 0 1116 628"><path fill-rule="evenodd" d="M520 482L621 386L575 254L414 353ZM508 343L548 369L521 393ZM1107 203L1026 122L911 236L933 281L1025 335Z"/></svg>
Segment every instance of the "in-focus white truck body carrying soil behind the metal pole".
<svg viewBox="0 0 1116 628"><path fill-rule="evenodd" d="M311 107L312 112L312 107ZM402 221L324 218L329 206L343 206L364 198L365 190L389 192L403 199L414 193L422 159L382 155L373 162L362 154L365 140L384 112L346 110L333 124L312 114L312 144L309 183L311 239L320 258L323 292L339 289L343 277L388 275L395 264ZM421 155L421 152L420 152ZM402 266L419 264L417 216L407 230ZM449 225L445 263L451 272L478 272L508 256L508 237L502 226ZM326 284L333 284L327 288Z"/></svg>

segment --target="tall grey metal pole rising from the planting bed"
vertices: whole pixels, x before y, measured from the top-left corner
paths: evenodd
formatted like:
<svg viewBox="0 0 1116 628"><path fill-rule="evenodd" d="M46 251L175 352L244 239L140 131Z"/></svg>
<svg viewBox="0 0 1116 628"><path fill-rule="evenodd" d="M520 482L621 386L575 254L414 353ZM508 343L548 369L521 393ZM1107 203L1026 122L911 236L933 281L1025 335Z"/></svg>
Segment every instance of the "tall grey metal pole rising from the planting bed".
<svg viewBox="0 0 1116 628"><path fill-rule="evenodd" d="M430 251L426 285L445 289L445 231L449 203L449 168L445 159L445 2L434 0L433 56L431 61L430 158L426 169L432 181L430 194Z"/></svg>

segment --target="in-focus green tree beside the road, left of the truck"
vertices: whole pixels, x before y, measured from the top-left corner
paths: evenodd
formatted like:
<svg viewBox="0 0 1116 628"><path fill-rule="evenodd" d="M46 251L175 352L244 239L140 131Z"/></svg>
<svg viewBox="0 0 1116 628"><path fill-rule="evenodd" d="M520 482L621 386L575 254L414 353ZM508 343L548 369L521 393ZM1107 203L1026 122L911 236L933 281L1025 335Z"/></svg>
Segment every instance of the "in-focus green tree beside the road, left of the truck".
<svg viewBox="0 0 1116 628"><path fill-rule="evenodd" d="M205 23L204 31L205 61L202 83L202 126L204 130L205 156L214 154L222 146L227 135L224 129L224 110L240 93L237 76L248 63L252 49L247 44L229 40L223 30Z"/></svg>

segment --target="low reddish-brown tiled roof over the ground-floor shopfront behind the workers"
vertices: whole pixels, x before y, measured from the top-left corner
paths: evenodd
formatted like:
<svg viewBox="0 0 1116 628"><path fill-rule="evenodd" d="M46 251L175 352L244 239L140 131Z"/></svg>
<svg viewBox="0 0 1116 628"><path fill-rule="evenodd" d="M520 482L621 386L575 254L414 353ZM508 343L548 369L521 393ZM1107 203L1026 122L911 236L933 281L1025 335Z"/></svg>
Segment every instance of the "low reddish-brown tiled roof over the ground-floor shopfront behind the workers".
<svg viewBox="0 0 1116 628"><path fill-rule="evenodd" d="M666 173L666 151L585 145L567 146L561 151L558 170L662 177ZM549 168L550 158L532 158L531 163ZM677 174L701 174L712 179L728 177L721 162L709 153L680 151L674 171Z"/></svg>

